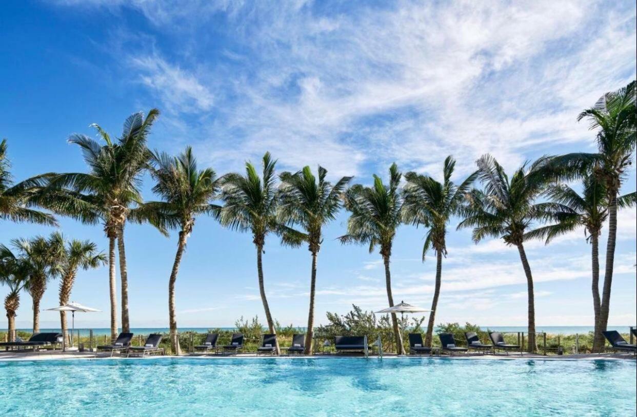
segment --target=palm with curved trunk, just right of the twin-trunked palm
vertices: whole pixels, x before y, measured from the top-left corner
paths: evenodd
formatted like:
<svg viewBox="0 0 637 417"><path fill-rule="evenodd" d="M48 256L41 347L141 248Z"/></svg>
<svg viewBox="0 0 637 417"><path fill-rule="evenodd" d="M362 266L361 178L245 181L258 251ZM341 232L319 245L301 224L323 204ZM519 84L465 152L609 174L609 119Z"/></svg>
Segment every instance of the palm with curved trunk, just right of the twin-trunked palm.
<svg viewBox="0 0 637 417"><path fill-rule="evenodd" d="M202 214L217 215L219 206L210 204L219 190L217 174L211 168L199 170L197 160L188 146L178 157L166 153L154 153L151 160L151 175L157 181L153 192L164 201L147 202L145 208L155 223L166 229L179 230L175 262L168 283L168 311L171 344L175 355L181 354L177 336L175 313L175 283L185 250L192 233L196 217Z"/></svg>

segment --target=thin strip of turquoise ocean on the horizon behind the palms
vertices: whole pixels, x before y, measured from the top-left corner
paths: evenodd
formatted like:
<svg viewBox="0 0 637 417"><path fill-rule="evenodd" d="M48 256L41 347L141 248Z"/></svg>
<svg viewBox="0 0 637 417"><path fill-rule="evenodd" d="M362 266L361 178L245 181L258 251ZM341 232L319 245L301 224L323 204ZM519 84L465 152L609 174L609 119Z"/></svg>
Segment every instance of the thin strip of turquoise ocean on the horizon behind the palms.
<svg viewBox="0 0 637 417"><path fill-rule="evenodd" d="M620 333L628 333L631 326L608 326L608 330L617 330ZM236 327L182 327L179 329L179 332L197 332L197 333L206 333L208 330L236 330ZM299 331L304 332L306 327L295 327ZM438 329L438 327L436 327ZM494 330L496 332L526 332L526 326L481 326L482 330ZM18 332L31 332L32 329L17 329ZM70 329L69 329L70 330ZM81 334L89 334L89 330L93 330L94 336L103 336L110 334L111 330L108 327L100 327L100 328L80 328L76 327L75 332L80 331ZM131 328L131 332L133 334L150 334L150 333L168 333L168 327L133 327ZM0 332L6 332L7 329L0 329ZM41 332L59 332L61 329L58 327L57 329L54 327L42 327L40 329ZM121 331L121 329L118 329ZM547 334L563 334L563 335L571 335L571 334L587 334L593 331L592 326L536 326L537 332L546 332Z"/></svg>

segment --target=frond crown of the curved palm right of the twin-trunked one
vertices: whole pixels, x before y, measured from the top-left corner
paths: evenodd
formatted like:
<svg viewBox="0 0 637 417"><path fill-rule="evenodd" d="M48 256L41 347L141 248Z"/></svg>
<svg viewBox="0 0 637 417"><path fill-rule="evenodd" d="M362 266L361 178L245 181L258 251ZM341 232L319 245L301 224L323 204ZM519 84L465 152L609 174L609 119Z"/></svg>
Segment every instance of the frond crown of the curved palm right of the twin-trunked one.
<svg viewBox="0 0 637 417"><path fill-rule="evenodd" d="M164 201L147 202L140 212L148 213L145 217L160 230L180 229L189 234L197 215L217 215L220 207L210 204L220 188L217 174L211 168L198 169L190 146L177 157L152 153L150 166L157 181L153 192Z"/></svg>

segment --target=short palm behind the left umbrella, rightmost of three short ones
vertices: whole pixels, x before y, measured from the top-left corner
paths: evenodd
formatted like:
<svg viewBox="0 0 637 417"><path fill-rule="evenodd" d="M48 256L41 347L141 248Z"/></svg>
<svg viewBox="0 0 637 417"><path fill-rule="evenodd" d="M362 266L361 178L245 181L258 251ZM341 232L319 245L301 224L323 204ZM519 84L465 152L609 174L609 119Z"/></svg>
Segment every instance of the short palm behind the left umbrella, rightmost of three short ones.
<svg viewBox="0 0 637 417"><path fill-rule="evenodd" d="M61 276L59 299L60 305L64 306L71 300L71 290L73 290L78 270L81 268L87 271L100 267L106 264L107 258L103 252L98 252L97 245L89 240L71 239L68 241L60 232L54 232L49 241L59 262L59 275ZM60 311L60 323L64 339L70 343L66 311Z"/></svg>

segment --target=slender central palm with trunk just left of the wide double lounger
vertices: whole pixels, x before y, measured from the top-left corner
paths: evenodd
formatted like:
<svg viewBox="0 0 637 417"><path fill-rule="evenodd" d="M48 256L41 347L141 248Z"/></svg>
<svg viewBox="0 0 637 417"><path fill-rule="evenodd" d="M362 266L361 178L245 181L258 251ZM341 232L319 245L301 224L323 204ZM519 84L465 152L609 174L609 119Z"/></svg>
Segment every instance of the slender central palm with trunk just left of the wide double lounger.
<svg viewBox="0 0 637 417"><path fill-rule="evenodd" d="M317 256L323 242L322 227L336 218L341 208L341 199L347 183L352 180L344 176L332 185L325 180L327 170L318 167L317 178L310 167L303 167L297 173L282 173L280 187L279 221L288 223L290 227L299 225L304 232L299 232L303 241L308 244L312 256L310 274L310 312L305 336L305 354L311 355L314 327L314 297L317 279Z"/></svg>

